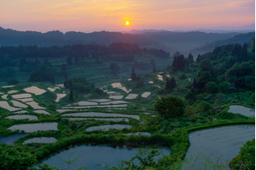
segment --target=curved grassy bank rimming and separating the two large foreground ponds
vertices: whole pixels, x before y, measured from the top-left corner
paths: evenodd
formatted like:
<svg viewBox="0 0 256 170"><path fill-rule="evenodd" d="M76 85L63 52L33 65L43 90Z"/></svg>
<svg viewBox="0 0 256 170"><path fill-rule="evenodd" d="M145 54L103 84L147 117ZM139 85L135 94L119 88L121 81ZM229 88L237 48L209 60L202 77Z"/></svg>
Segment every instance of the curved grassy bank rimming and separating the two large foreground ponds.
<svg viewBox="0 0 256 170"><path fill-rule="evenodd" d="M235 124L254 124L254 119L248 120L231 120L231 121L214 121L207 124L194 125L190 127L175 128L170 134L152 134L151 136L127 136L123 134L80 134L73 137L61 139L56 143L51 143L37 148L32 152L38 161L56 154L63 149L77 145L108 145L108 146L128 146L128 147L145 147L145 146L163 146L170 147L172 154L164 156L159 160L159 167L156 169L177 167L187 154L190 146L188 133L209 127L220 127ZM179 166L178 166L179 167Z"/></svg>

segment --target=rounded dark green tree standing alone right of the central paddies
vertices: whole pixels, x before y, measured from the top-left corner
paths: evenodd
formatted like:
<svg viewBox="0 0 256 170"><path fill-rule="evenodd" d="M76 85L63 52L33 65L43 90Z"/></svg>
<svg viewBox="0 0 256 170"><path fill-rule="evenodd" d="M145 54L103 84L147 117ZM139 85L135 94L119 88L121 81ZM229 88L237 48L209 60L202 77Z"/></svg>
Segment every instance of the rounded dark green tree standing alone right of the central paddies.
<svg viewBox="0 0 256 170"><path fill-rule="evenodd" d="M157 99L154 104L154 109L158 111L163 118L177 118L184 114L185 104L180 97L169 95Z"/></svg>

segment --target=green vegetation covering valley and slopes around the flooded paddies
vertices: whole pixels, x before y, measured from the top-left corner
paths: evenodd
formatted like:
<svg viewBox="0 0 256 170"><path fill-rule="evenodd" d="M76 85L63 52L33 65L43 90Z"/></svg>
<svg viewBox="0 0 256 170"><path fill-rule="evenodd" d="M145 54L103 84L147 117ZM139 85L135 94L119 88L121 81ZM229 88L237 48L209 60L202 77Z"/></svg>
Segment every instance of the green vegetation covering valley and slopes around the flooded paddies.
<svg viewBox="0 0 256 170"><path fill-rule="evenodd" d="M12 94L8 92L17 90L16 94L23 94L25 93L23 88L36 85L46 92L43 95L32 95L32 99L49 112L49 115L36 114L34 108L29 106L23 110L28 114L36 115L37 121L7 120L5 118L13 112L0 108L0 136L18 134L18 131L10 131L8 127L23 123L55 121L59 129L57 132L36 132L24 136L16 141L15 147L1 145L1 150L4 152L0 156L4 158L0 160L5 162L5 167L14 164L16 169L17 167L26 169L51 154L75 145L166 146L171 149L172 154L165 155L161 160L153 160L153 157L159 154L157 150L152 149L146 152L141 149L133 158L140 160L140 165L131 165L131 160L124 160L121 168L175 169L181 167L181 161L189 147L189 132L200 128L255 122L253 118L227 112L228 106L234 104L254 108L255 49L253 49L253 43L252 40L243 45L221 46L213 49L213 52L198 56L195 61L191 54L185 57L181 53L176 53L172 64L171 59L167 58L167 52L163 50L141 49L135 44L126 43L113 43L108 46L0 48L0 52L5 54L1 60L6 63L4 65L6 68L3 67L1 73L3 69L18 67L20 73L15 74L23 74L10 76L16 78L2 79L8 81L8 84L16 84L14 87L0 88L0 92L7 95L7 100L3 99L3 101L8 101L11 107L15 107L10 102L13 100ZM22 52L17 53L19 50ZM49 54L48 59L45 58L45 54ZM164 67L166 69L163 69ZM157 72L159 69L161 72ZM161 75L163 80L159 79L158 75ZM27 82L28 79L30 82ZM63 82L64 88L60 86L56 88L53 84L55 82ZM110 85L112 82L121 82L123 87L131 89L129 94L138 96L134 100L125 99L129 94L120 88L113 88ZM50 91L49 87L55 87L56 91ZM110 108L109 110L92 107L83 110L84 108L77 104L78 101L106 100L111 95L107 92L123 95L120 100L128 102L127 109ZM142 97L141 95L145 92L150 92L150 95ZM57 94L67 95L61 101L56 101ZM25 101L21 102L26 104ZM96 102L95 106L100 106L101 102ZM113 105L115 104L111 103L108 106ZM57 112L57 109L69 108L69 106L78 108L73 111L67 110L63 114L80 112L136 114L140 116L140 120L128 118L128 121L115 122L93 121L92 118L86 121L70 121ZM115 124L130 125L131 128L110 129L106 132L86 130L88 127ZM147 132L151 135L125 135L136 132ZM51 144L23 145L23 141L33 137L55 137L57 141ZM253 169L252 166L255 163L252 161L254 157L252 143L254 141L247 142L241 148L240 155L232 161L233 168L239 164L238 167L247 166L248 169ZM23 160L15 155L21 155ZM45 169L47 168L46 166ZM106 169L115 169L115 167L106 167Z"/></svg>

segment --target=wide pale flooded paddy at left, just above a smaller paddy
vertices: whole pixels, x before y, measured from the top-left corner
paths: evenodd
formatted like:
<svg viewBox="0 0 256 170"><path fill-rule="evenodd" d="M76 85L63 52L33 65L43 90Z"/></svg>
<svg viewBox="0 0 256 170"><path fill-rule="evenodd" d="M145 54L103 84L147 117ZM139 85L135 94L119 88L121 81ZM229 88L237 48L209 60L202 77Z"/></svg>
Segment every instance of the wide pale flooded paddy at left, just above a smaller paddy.
<svg viewBox="0 0 256 170"><path fill-rule="evenodd" d="M8 129L15 131L24 131L25 133L33 133L37 131L48 131L48 130L58 130L58 123L56 122L47 122L47 123L28 123L28 124L19 124L9 127Z"/></svg>

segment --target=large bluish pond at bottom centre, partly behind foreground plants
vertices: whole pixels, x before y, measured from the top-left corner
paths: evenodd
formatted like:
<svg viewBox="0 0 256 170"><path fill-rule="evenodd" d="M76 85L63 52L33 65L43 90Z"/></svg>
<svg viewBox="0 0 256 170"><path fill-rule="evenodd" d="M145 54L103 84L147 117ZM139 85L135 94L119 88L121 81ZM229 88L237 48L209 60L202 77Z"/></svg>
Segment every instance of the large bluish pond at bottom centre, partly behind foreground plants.
<svg viewBox="0 0 256 170"><path fill-rule="evenodd" d="M88 169L105 170L104 167L95 167L95 165L115 166L120 165L121 160L130 160L138 152L138 148L128 147L106 147L106 146L76 146L64 150L61 153L51 156L44 160L43 163L56 166L61 169L77 169L86 167ZM161 155L155 157L155 160L162 157L163 154L171 154L166 147L159 148ZM72 162L68 165L67 162ZM139 164L138 160L134 160L135 164Z"/></svg>

